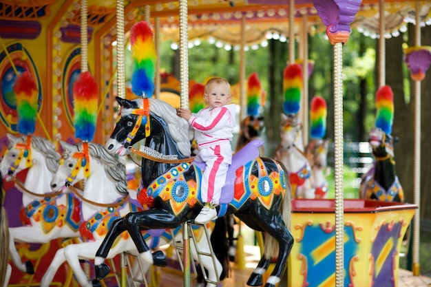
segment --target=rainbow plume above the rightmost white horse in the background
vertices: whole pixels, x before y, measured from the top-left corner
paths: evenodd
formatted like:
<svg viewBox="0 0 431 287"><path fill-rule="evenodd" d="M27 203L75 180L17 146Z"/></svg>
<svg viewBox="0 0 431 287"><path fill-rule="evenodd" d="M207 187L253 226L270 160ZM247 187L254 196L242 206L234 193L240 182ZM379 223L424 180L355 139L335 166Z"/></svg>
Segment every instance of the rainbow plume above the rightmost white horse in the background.
<svg viewBox="0 0 431 287"><path fill-rule="evenodd" d="M326 100L320 96L315 96L311 100L310 110L310 137L324 138L326 134Z"/></svg>

